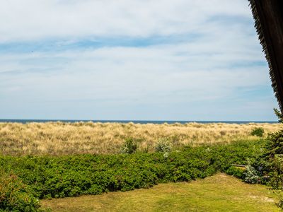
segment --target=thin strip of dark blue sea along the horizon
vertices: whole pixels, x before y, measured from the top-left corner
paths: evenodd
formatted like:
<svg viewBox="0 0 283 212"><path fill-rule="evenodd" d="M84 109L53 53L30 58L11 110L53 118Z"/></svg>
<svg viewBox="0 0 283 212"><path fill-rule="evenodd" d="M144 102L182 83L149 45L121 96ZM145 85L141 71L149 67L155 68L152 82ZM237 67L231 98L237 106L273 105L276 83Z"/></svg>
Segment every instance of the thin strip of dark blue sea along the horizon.
<svg viewBox="0 0 283 212"><path fill-rule="evenodd" d="M173 120L164 120L164 121L151 121L151 120L64 120L64 119L0 119L0 122L18 122L18 123L29 123L29 122L102 122L102 123L107 123L107 122L117 122L117 123L129 123L133 122L134 124L175 124L175 123L180 123L180 124L185 124L188 122L197 122L200 124L209 124L209 123L226 123L226 124L248 124L248 123L270 123L270 124L275 124L278 122L253 122L253 121L173 121Z"/></svg>

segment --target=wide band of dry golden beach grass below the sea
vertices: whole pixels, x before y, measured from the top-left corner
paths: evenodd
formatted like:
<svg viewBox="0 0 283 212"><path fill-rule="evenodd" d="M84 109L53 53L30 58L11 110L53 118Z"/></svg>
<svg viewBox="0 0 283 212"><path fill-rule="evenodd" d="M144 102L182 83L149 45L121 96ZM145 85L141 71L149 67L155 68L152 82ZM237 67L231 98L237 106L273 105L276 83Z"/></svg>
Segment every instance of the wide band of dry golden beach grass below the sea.
<svg viewBox="0 0 283 212"><path fill-rule="evenodd" d="M0 123L0 154L71 155L119 153L125 139L138 143L139 151L154 151L158 139L173 146L229 143L258 139L250 132L262 127L265 136L282 129L282 124L134 124L99 122Z"/></svg>

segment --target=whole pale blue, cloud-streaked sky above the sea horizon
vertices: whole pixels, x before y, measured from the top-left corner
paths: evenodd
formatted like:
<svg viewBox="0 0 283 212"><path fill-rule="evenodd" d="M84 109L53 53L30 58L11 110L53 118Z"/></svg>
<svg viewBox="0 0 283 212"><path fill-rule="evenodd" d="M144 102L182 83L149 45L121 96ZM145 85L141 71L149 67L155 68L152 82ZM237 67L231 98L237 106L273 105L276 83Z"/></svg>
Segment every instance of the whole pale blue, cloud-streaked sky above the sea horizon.
<svg viewBox="0 0 283 212"><path fill-rule="evenodd" d="M0 119L276 121L246 0L2 0Z"/></svg>

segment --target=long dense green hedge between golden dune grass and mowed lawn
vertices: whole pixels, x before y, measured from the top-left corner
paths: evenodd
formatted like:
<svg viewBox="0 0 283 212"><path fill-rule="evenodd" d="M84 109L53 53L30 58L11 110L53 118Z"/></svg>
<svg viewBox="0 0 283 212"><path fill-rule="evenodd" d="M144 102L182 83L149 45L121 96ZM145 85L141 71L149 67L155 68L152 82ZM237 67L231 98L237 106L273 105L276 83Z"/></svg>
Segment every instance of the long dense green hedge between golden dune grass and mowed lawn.
<svg viewBox="0 0 283 212"><path fill-rule="evenodd" d="M243 141L222 146L186 147L168 153L166 157L163 153L0 156L0 170L13 172L21 180L16 187L28 188L26 191L30 192L20 189L24 194L30 195L28 198L31 200L26 204L28 207L32 205L30 202L34 202L34 198L127 191L151 187L159 182L204 178L217 171L241 177L243 171L231 164L245 165L248 158L256 160L260 154L262 141ZM7 207L2 204L7 202L7 197L3 201L1 195L0 193L0 208ZM37 208L36 204L33 208Z"/></svg>

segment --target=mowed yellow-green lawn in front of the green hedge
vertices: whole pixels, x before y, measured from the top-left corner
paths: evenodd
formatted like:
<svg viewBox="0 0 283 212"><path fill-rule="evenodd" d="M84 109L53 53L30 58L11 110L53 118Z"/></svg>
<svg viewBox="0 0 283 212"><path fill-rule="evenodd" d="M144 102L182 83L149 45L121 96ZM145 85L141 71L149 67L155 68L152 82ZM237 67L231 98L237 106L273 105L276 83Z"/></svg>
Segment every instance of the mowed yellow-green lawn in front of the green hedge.
<svg viewBox="0 0 283 212"><path fill-rule="evenodd" d="M52 211L279 211L267 187L217 174L193 182L96 196L44 199Z"/></svg>

